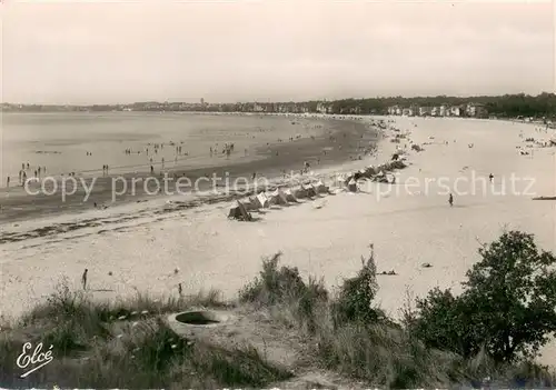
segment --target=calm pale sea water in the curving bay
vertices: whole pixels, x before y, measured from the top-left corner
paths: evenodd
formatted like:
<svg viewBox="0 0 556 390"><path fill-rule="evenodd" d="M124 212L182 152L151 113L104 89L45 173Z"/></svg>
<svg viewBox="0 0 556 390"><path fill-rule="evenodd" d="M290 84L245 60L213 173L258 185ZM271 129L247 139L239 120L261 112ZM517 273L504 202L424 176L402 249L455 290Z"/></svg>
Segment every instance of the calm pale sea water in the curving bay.
<svg viewBox="0 0 556 390"><path fill-rule="evenodd" d="M202 166L210 156L210 147L219 149L215 158L225 158L224 143L234 142L235 158L244 158L246 149L248 156L254 154L258 146L277 142L278 138L318 134L319 129L321 131L315 121L262 116L4 113L0 186L7 184L7 177L17 183L22 163L26 169L29 163L28 177L32 177L38 167L47 167L48 176L59 176L99 174L103 164L110 167L110 172L148 171L151 164L158 169L162 159L166 169ZM153 143L165 143L163 149L155 153ZM176 146L181 146L181 156L177 156ZM126 154L126 149L132 153Z"/></svg>

